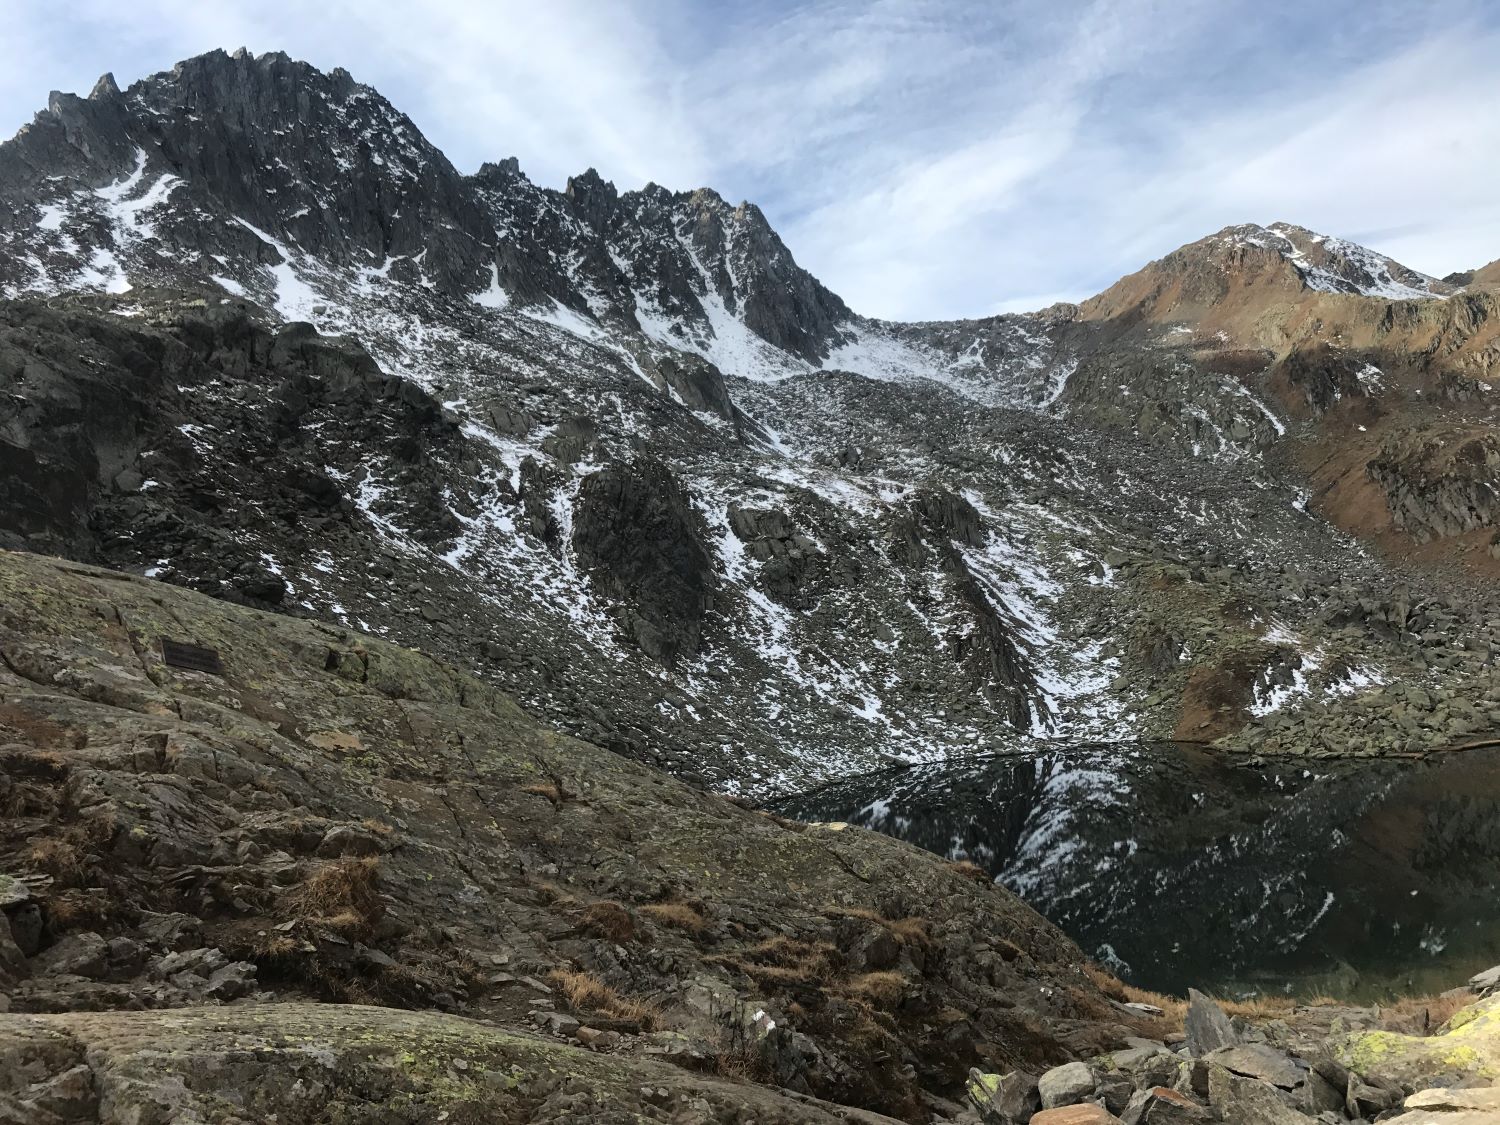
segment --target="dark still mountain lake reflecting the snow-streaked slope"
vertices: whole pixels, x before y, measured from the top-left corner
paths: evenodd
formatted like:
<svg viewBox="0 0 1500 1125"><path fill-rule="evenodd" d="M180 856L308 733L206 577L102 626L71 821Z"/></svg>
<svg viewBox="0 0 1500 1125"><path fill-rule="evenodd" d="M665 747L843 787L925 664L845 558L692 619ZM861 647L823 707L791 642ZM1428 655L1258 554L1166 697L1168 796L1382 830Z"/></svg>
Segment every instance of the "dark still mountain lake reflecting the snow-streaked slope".
<svg viewBox="0 0 1500 1125"><path fill-rule="evenodd" d="M1172 742L896 766L770 806L974 860L1146 988L1372 1000L1500 963L1500 752Z"/></svg>

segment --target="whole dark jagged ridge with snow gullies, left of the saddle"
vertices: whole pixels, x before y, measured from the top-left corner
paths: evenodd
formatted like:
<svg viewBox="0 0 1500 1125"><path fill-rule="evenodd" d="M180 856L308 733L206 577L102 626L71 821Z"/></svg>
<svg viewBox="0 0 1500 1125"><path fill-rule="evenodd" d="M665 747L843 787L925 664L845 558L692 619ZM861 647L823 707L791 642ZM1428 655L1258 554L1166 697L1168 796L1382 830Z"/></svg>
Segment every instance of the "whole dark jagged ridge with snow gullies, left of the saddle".
<svg viewBox="0 0 1500 1125"><path fill-rule="evenodd" d="M730 375L820 366L855 316L759 207L699 188L460 176L346 70L248 51L56 94L0 147L0 291L219 286L282 318L369 285L561 306Z"/></svg>

